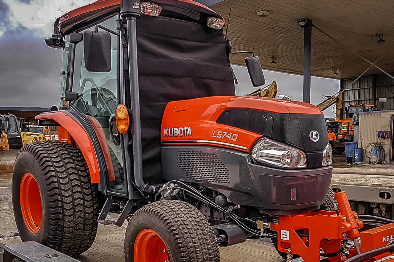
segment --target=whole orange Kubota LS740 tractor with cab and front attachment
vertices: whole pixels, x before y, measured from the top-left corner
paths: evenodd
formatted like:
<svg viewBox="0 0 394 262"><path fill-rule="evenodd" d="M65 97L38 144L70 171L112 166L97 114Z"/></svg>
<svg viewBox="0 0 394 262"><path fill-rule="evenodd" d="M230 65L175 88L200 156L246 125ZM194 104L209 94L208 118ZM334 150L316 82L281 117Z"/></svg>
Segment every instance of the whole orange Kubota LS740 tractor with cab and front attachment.
<svg viewBox="0 0 394 262"><path fill-rule="evenodd" d="M345 192L329 190L318 107L235 96L231 54L252 54L251 81L265 81L253 51L232 50L224 24L191 0L99 0L56 20L45 41L63 50L62 102L36 119L57 126L62 142L17 156L23 241L77 256L99 223L127 220L130 262L219 262L218 246L248 238L271 238L288 261L392 252L394 221L357 216ZM360 234L361 220L387 225Z"/></svg>

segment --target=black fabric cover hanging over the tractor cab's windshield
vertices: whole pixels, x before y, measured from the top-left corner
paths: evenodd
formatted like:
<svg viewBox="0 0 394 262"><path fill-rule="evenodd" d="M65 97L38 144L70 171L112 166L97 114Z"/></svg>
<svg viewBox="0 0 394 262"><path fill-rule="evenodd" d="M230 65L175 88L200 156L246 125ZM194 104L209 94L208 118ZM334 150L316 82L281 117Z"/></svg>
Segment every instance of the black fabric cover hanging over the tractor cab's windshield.
<svg viewBox="0 0 394 262"><path fill-rule="evenodd" d="M160 126L169 101L234 96L222 30L143 16L137 24L143 174L161 182Z"/></svg>

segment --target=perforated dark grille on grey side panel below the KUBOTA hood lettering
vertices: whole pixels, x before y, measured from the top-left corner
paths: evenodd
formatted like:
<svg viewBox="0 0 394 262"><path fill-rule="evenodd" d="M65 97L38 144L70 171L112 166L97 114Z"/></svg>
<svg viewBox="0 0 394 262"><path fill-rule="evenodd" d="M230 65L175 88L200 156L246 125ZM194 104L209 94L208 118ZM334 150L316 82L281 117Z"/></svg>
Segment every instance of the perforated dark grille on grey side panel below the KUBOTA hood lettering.
<svg viewBox="0 0 394 262"><path fill-rule="evenodd" d="M216 153L179 151L179 168L190 181L230 184L230 171Z"/></svg>

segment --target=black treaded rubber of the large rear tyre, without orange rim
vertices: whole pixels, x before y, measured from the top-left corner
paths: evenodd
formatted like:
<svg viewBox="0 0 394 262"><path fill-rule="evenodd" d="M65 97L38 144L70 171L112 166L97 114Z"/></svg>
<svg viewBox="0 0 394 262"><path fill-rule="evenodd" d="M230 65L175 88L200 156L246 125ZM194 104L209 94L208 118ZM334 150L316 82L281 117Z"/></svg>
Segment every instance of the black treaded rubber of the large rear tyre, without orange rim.
<svg viewBox="0 0 394 262"><path fill-rule="evenodd" d="M20 212L20 179L33 174L41 194L43 221L31 234ZM93 244L98 228L99 200L90 182L85 159L76 146L43 141L20 149L13 172L15 221L23 241L34 240L69 256L78 256Z"/></svg>

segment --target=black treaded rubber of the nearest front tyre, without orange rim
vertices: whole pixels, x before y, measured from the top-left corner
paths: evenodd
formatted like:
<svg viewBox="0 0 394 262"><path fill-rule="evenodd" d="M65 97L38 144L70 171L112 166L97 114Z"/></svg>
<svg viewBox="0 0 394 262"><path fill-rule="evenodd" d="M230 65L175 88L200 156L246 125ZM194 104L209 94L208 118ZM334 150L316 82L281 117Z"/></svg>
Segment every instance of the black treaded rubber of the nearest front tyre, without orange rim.
<svg viewBox="0 0 394 262"><path fill-rule="evenodd" d="M132 216L125 236L127 262L134 262L134 241L143 229L158 232L172 262L220 262L214 230L197 208L184 201L157 201Z"/></svg>

